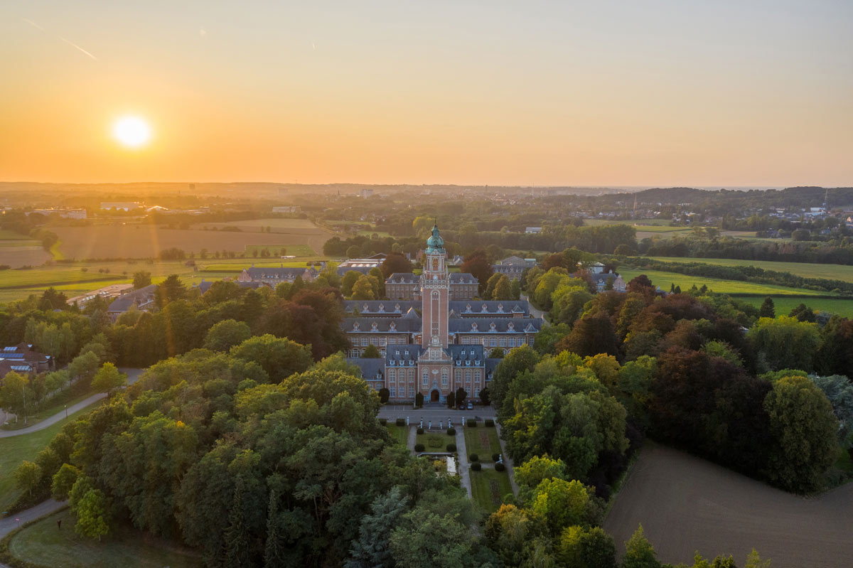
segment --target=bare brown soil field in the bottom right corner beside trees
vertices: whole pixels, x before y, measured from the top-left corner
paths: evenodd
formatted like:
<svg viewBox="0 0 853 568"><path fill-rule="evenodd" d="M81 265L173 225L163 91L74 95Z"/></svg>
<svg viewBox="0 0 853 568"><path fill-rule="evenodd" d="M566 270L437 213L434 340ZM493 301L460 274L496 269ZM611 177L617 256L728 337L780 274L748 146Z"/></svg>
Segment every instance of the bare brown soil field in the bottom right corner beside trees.
<svg viewBox="0 0 853 568"><path fill-rule="evenodd" d="M647 443L604 522L619 554L643 525L661 562L693 564L752 548L773 568L853 565L853 484L821 496L774 489L676 449Z"/></svg>

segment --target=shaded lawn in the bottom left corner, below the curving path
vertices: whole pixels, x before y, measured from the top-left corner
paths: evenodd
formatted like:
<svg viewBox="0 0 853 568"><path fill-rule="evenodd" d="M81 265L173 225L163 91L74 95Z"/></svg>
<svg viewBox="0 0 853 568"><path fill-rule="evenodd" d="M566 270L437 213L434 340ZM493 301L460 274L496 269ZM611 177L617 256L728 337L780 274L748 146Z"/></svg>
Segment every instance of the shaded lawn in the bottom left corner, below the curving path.
<svg viewBox="0 0 853 568"><path fill-rule="evenodd" d="M56 521L62 520L61 529ZM128 526L119 526L102 541L78 536L68 509L54 513L21 530L9 542L17 558L67 568L200 568L199 554Z"/></svg>

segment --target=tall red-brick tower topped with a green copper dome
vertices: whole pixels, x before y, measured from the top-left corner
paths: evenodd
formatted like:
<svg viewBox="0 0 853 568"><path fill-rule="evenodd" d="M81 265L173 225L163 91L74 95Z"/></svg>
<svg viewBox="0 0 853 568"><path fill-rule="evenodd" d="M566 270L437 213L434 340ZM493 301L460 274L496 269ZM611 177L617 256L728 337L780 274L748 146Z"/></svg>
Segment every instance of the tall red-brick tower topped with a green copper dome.
<svg viewBox="0 0 853 568"><path fill-rule="evenodd" d="M447 274L447 252L444 250L444 239L438 233L438 224L432 225L432 236L427 240L423 266L421 346L446 348L449 335L447 318L450 315L450 278Z"/></svg>

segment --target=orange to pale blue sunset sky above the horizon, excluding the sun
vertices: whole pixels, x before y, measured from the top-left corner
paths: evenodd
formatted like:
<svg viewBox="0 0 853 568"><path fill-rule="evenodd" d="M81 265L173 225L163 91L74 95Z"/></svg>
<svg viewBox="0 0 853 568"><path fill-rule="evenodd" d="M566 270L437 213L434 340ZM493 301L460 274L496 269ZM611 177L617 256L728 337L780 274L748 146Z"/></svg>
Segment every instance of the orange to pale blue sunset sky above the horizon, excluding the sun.
<svg viewBox="0 0 853 568"><path fill-rule="evenodd" d="M853 185L850 0L3 0L0 78L0 181Z"/></svg>

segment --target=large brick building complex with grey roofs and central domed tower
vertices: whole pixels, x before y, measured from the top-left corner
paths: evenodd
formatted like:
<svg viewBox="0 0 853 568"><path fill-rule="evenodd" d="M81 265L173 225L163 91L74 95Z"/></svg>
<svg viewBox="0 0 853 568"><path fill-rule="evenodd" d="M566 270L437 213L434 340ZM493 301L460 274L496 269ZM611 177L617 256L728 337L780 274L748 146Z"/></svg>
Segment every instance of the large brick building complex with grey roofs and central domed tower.
<svg viewBox="0 0 853 568"><path fill-rule="evenodd" d="M474 300L478 282L448 272L437 226L427 240L423 267L421 275L388 278L386 294L392 299L345 303L352 315L342 323L351 344L349 361L362 369L369 385L386 387L397 402L413 401L418 392L427 401L444 402L460 387L478 399L500 362L489 358L489 351L532 343L543 321L531 318L525 301ZM400 288L392 292L392 286ZM368 345L375 345L381 358L357 358Z"/></svg>

